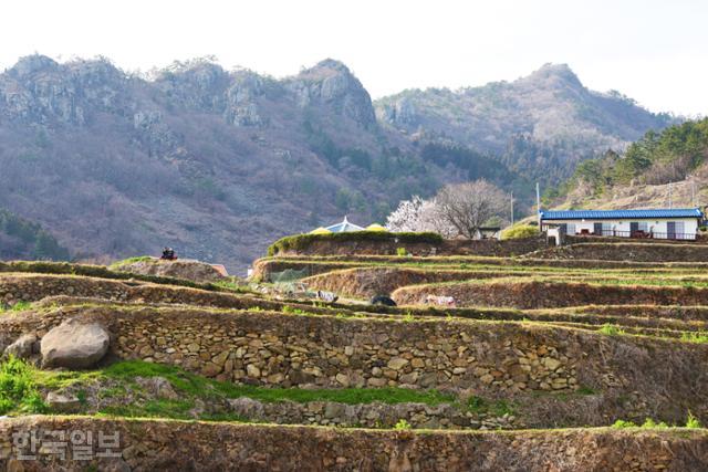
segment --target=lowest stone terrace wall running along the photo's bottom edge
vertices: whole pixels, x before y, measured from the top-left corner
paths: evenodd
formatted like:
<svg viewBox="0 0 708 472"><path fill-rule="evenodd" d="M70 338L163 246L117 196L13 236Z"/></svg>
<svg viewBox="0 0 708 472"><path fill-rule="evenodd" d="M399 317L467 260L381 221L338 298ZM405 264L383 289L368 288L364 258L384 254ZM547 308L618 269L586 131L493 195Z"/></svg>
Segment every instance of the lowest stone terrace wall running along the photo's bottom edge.
<svg viewBox="0 0 708 472"><path fill-rule="evenodd" d="M50 454L40 439L38 458L17 459L13 438L31 431L91 432L65 455ZM114 458L98 438L117 434ZM81 439L81 438L79 438ZM105 439L104 439L105 441ZM79 444L79 442L77 442ZM25 450L29 452L29 449ZM114 471L681 471L705 470L704 430L637 431L576 429L538 432L442 432L343 430L83 417L25 417L0 421L2 470Z"/></svg>

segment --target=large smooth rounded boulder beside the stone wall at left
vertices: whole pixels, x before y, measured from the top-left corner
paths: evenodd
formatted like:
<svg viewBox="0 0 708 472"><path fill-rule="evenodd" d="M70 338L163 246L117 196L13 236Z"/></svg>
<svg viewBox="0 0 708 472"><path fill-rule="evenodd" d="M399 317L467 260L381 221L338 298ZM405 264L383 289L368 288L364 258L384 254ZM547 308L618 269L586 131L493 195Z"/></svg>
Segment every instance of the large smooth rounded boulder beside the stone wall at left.
<svg viewBox="0 0 708 472"><path fill-rule="evenodd" d="M111 336L100 324L70 319L42 338L42 365L70 369L93 367L106 355L110 344Z"/></svg>

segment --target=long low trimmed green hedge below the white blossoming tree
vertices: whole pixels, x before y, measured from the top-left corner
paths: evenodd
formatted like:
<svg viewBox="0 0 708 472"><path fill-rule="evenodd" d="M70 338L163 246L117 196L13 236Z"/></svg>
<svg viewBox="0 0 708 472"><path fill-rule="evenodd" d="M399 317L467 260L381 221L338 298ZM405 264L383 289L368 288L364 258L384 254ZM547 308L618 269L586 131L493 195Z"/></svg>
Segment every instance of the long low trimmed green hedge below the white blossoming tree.
<svg viewBox="0 0 708 472"><path fill-rule="evenodd" d="M279 239L268 248L268 255L273 256L280 252L300 251L317 241L348 242L348 241L393 241L398 243L428 243L441 244L442 237L438 233L389 233L383 231L351 231L344 233L327 234L294 234Z"/></svg>

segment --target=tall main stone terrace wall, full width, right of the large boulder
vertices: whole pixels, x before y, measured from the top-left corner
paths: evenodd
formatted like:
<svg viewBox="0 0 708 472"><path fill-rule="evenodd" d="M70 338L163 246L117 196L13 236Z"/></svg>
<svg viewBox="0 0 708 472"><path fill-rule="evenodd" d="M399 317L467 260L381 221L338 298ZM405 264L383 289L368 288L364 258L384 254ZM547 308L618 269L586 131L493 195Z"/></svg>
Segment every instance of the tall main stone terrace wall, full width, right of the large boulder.
<svg viewBox="0 0 708 472"><path fill-rule="evenodd" d="M503 322L76 306L0 316L0 344L64 319L98 322L117 358L272 387L636 392L667 418L708 419L708 346ZM671 379L667 382L667 379ZM648 408L648 407L647 407ZM645 408L646 410L646 408ZM608 421L611 419L607 419Z"/></svg>

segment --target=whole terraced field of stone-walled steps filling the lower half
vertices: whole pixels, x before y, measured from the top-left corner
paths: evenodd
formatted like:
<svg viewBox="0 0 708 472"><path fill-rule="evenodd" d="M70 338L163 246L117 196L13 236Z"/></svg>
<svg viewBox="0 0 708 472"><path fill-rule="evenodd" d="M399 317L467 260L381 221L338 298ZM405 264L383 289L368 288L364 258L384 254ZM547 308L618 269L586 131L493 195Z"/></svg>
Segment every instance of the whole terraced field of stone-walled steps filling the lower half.
<svg viewBox="0 0 708 472"><path fill-rule="evenodd" d="M706 470L708 264L671 248L369 243L262 259L250 284L0 263L0 470ZM96 333L100 358L62 364ZM25 432L76 429L117 455L18 459Z"/></svg>

